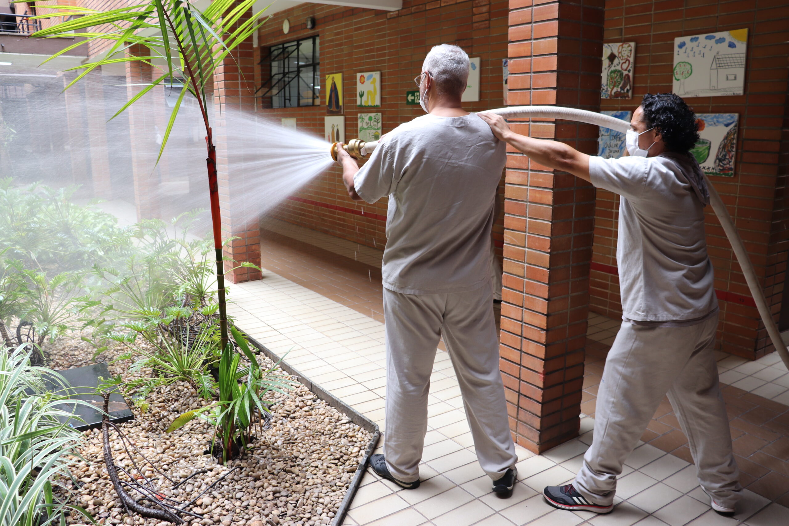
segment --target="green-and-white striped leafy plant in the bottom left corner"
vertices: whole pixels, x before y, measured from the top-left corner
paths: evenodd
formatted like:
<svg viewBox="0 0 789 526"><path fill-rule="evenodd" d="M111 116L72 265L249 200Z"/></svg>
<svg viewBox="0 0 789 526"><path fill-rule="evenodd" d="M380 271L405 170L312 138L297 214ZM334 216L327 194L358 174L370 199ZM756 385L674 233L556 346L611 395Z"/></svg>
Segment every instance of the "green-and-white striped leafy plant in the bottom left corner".
<svg viewBox="0 0 789 526"><path fill-rule="evenodd" d="M65 420L63 405L88 405L47 391L65 379L55 371L31 365L31 352L20 345L0 353L0 526L44 526L60 523L66 510L90 520L84 509L58 502L53 488L71 477L69 465L79 460L82 435ZM61 421L63 420L63 422Z"/></svg>

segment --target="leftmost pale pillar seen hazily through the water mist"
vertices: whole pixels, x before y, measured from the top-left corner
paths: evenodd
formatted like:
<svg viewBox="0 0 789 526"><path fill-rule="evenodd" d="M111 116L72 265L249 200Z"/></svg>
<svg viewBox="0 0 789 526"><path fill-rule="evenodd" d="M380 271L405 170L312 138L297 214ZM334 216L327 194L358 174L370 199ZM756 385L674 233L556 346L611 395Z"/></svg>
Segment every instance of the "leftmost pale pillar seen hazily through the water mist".
<svg viewBox="0 0 789 526"><path fill-rule="evenodd" d="M85 83L85 98L88 101L88 138L91 145L91 177L93 196L99 199L112 199L110 182L110 158L107 155L107 118L104 114L104 77L90 75Z"/></svg>

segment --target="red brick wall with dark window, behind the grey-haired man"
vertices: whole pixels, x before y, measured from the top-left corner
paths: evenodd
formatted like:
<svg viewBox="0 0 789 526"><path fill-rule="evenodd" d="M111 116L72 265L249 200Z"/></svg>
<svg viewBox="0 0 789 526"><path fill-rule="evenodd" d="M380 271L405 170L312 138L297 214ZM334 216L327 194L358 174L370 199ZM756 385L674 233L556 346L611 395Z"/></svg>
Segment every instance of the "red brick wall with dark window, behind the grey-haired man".
<svg viewBox="0 0 789 526"><path fill-rule="evenodd" d="M320 77L342 73L346 140L357 136L359 113L378 112L383 132L394 129L424 112L406 106L406 91L416 90L413 77L421 71L424 55L439 43L456 43L481 58L480 102L466 103L467 110L503 106L502 59L507 58L507 2L489 0L405 0L403 9L387 13L369 9L302 4L268 21L260 30L260 47L320 35ZM304 21L315 17L308 31ZM282 34L288 18L290 32ZM263 66L264 78L268 65ZM357 108L354 103L356 73L381 72L381 107ZM325 95L322 95L325 96ZM323 136L326 106L261 110L274 118L297 118L297 128ZM368 246L383 248L386 237L387 200L374 205L348 199L341 173L331 169L297 194L305 201L287 200L275 215L312 229L323 230ZM320 203L322 206L316 206ZM364 212L364 215L362 214ZM501 241L501 226L495 234Z"/></svg>

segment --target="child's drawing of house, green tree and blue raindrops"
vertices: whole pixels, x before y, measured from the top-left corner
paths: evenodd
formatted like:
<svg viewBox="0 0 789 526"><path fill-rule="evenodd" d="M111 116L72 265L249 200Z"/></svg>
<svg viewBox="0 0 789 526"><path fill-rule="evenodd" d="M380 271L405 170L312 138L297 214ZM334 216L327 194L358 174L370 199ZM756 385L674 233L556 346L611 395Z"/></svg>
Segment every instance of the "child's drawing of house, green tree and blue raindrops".
<svg viewBox="0 0 789 526"><path fill-rule="evenodd" d="M681 97L742 95L748 29L674 39L674 88Z"/></svg>

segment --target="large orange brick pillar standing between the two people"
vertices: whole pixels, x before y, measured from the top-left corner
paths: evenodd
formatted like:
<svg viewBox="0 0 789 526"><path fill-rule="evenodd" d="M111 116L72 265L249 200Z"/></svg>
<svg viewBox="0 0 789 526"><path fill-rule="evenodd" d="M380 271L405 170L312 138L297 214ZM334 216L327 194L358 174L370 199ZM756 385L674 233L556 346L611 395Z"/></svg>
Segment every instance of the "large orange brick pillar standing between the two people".
<svg viewBox="0 0 789 526"><path fill-rule="evenodd" d="M600 110L604 0L510 0L510 106ZM597 129L510 121L517 132L596 152ZM578 435L593 186L508 150L501 368L518 444L537 453Z"/></svg>

